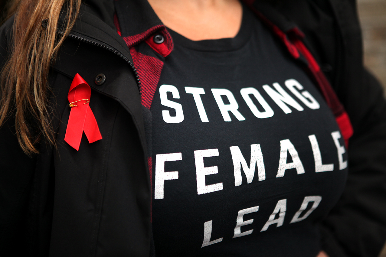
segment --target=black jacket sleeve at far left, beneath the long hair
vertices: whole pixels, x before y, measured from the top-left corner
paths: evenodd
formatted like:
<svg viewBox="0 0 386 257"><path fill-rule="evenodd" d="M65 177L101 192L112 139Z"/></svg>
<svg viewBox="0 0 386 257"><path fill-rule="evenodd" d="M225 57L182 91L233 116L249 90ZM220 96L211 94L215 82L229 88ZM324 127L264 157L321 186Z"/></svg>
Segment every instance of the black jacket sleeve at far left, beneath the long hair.
<svg viewBox="0 0 386 257"><path fill-rule="evenodd" d="M13 20L0 28L0 64L8 56ZM1 91L0 91L1 92ZM2 94L2 93L1 93ZM0 256L24 252L27 247L28 203L36 158L20 149L13 115L0 127Z"/></svg>

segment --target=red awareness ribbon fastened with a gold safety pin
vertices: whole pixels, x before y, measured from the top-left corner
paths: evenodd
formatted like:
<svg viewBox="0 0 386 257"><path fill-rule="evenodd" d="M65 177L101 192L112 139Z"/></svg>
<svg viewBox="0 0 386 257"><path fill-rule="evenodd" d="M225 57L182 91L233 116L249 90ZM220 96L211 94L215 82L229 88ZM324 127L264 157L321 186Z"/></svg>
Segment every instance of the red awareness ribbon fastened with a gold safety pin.
<svg viewBox="0 0 386 257"><path fill-rule="evenodd" d="M79 150L83 131L90 144L102 139L97 120L95 120L94 113L89 106L90 96L90 86L76 73L70 90L68 91L68 101L71 112L68 118L64 141L77 151Z"/></svg>

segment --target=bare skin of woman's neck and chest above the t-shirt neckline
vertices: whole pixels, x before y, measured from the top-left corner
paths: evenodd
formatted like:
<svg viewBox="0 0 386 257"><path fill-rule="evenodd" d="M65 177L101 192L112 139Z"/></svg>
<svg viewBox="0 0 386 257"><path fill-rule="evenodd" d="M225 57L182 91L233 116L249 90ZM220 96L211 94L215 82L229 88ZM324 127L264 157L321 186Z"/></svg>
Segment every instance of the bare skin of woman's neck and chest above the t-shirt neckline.
<svg viewBox="0 0 386 257"><path fill-rule="evenodd" d="M166 27L198 41L235 37L242 20L238 0L148 0Z"/></svg>

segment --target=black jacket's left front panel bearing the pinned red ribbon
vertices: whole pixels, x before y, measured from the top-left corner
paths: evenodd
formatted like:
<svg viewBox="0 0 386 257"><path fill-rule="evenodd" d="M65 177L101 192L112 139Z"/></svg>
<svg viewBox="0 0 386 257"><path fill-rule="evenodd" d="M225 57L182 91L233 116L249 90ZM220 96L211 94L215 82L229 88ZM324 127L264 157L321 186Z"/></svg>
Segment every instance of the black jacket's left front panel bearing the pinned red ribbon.
<svg viewBox="0 0 386 257"><path fill-rule="evenodd" d="M124 59L97 46L77 43L68 41L66 51L59 56L60 61L55 66L61 73L55 87L64 94L59 96L64 102L61 119L68 120L70 110L66 98L73 76L78 72L95 89L91 91L90 107L103 139L89 144L83 137L77 152L63 140L67 124L61 123L59 127L61 144L55 156L50 255L76 253L84 256L92 251L97 256L131 253L147 257L150 249L150 188L143 150L146 142L141 140L141 133L145 135L142 109L135 78ZM103 63L98 62L106 55L110 58L104 57ZM73 60L78 60L76 65L68 65ZM101 86L94 82L99 73L106 76ZM95 161L91 161L93 159ZM71 189L67 190L69 184Z"/></svg>

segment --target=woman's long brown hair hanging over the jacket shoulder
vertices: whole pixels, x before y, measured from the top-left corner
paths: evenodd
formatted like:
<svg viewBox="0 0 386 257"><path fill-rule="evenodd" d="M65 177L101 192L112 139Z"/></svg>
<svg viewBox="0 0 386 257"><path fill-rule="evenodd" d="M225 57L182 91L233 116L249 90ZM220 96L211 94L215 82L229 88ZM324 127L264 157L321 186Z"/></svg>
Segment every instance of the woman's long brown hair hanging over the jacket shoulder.
<svg viewBox="0 0 386 257"><path fill-rule="evenodd" d="M0 126L12 114L16 136L26 154L38 153L41 137L55 144L47 76L59 47L73 27L81 0L14 0L10 56L1 71ZM63 27L58 20L66 8Z"/></svg>

